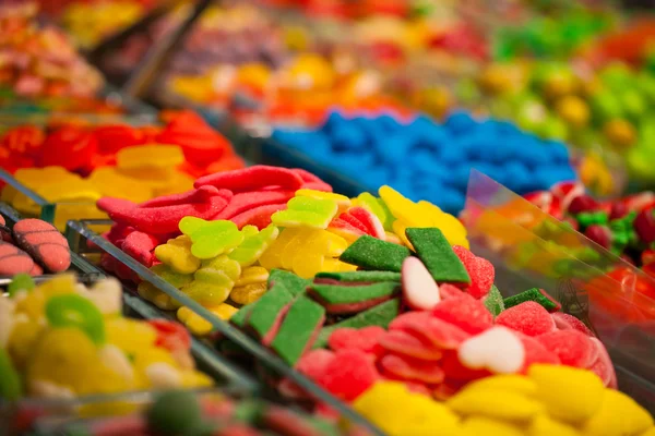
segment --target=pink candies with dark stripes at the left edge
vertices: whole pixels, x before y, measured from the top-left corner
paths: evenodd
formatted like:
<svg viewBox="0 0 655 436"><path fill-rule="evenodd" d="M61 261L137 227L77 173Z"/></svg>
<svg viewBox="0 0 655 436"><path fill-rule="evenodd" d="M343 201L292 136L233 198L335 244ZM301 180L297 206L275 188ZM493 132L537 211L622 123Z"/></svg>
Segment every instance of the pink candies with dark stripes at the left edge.
<svg viewBox="0 0 655 436"><path fill-rule="evenodd" d="M66 238L40 219L23 219L9 229L0 215L0 277L62 272L71 264Z"/></svg>

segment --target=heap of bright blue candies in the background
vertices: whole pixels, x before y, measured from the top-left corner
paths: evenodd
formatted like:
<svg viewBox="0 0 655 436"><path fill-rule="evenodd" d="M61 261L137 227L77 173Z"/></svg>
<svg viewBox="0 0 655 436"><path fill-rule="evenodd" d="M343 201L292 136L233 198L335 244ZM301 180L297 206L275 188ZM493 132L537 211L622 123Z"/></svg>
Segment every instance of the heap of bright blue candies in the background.
<svg viewBox="0 0 655 436"><path fill-rule="evenodd" d="M472 168L519 193L575 179L563 144L466 112L443 124L426 117L404 124L389 116L344 119L333 112L315 130L277 129L273 138L368 189L390 182L409 198L449 213L463 208Z"/></svg>

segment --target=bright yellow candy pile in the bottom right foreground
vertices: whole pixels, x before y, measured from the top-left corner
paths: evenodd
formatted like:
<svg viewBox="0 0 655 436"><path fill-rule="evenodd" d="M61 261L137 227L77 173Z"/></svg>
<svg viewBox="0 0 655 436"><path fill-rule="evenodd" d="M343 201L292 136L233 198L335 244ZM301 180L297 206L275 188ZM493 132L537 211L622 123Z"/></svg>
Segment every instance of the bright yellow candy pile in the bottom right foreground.
<svg viewBox="0 0 655 436"><path fill-rule="evenodd" d="M630 397L605 388L594 373L532 365L527 376L496 375L444 403L380 382L355 410L391 436L652 436L653 417Z"/></svg>

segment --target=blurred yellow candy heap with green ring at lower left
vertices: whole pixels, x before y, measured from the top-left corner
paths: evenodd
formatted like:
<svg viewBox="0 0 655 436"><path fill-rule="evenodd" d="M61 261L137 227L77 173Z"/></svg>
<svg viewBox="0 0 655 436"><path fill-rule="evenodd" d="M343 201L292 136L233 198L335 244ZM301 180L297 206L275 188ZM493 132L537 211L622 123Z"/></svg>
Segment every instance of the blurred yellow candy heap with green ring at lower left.
<svg viewBox="0 0 655 436"><path fill-rule="evenodd" d="M40 286L19 276L0 299L0 397L72 398L205 387L189 334L175 323L121 315L115 279L91 289L63 275Z"/></svg>

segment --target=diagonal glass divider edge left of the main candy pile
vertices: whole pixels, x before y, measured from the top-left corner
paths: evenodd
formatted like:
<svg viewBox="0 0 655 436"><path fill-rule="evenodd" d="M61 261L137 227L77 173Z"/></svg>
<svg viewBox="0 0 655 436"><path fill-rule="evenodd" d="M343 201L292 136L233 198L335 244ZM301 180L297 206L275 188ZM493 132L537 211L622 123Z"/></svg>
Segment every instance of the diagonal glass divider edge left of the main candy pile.
<svg viewBox="0 0 655 436"><path fill-rule="evenodd" d="M96 259L96 262L98 255L110 256L115 262L124 267L123 270L129 275L135 275L140 277L142 281L152 283L171 301L187 306L195 315L204 318L211 324L212 337L222 338L223 341L221 344L225 343L225 349L231 350L233 352L238 350L238 353L241 355L245 353L247 360L250 361L250 364L252 361L254 361L255 371L262 375L263 379L270 380L271 374L273 374L274 377L288 379L306 391L310 398L325 403L340 412L345 420L356 425L361 425L364 428L374 435L382 434L379 429L372 426L372 424L355 413L344 402L318 387L313 382L309 380L296 370L289 367L282 359L262 347L259 342L254 341L249 336L228 323L219 319L215 314L210 312L200 303L195 302L193 299L172 287L162 277L153 274L145 266L124 254L117 246L90 229L90 227L93 226L104 226L107 223L110 223L110 221L69 221L66 235L72 246L72 250L88 259ZM135 294L133 289L131 292L133 295Z"/></svg>

